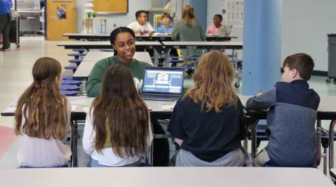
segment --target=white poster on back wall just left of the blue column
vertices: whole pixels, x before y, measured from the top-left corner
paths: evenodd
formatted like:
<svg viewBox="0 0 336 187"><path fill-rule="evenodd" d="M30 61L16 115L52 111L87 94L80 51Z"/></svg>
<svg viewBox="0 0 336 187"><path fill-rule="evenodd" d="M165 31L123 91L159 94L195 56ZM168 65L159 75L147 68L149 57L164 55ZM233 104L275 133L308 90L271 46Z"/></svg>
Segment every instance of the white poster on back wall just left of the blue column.
<svg viewBox="0 0 336 187"><path fill-rule="evenodd" d="M228 25L243 25L243 0L222 0L222 15Z"/></svg>

